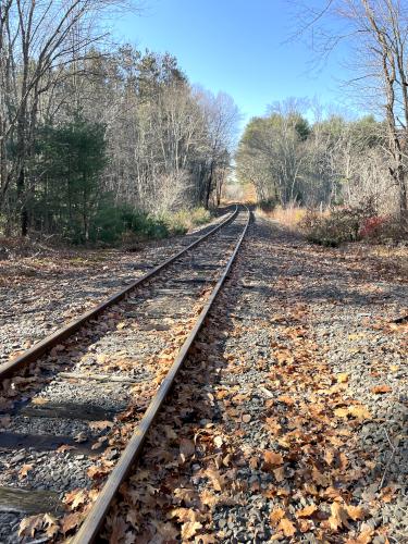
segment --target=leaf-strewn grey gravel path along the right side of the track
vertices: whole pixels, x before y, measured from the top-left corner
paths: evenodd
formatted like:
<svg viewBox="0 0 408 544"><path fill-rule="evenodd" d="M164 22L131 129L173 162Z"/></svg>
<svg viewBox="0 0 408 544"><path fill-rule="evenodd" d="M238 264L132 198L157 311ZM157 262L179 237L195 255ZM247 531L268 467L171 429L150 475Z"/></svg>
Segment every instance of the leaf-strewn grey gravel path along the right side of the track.
<svg viewBox="0 0 408 544"><path fill-rule="evenodd" d="M366 264L257 220L106 540L408 542L408 285Z"/></svg>

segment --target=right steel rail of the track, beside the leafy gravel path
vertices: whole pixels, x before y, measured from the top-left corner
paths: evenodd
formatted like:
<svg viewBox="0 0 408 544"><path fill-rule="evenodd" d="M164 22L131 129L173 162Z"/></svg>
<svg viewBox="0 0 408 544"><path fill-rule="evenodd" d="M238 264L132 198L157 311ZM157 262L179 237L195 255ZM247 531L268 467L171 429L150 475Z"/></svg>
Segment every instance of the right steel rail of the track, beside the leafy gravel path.
<svg viewBox="0 0 408 544"><path fill-rule="evenodd" d="M208 298L207 302L205 304L197 321L194 327L191 329L190 333L188 334L186 341L184 342L183 346L181 347L172 367L170 368L168 374L161 382L157 393L154 394L153 398L150 401L150 405L148 406L144 417L141 418L140 422L138 423L131 441L128 442L127 446L125 447L123 454L121 455L118 465L111 472L111 474L108 477L107 482L104 483L102 491L100 492L98 498L96 499L94 506L91 507L89 514L85 518L85 521L81 526L78 532L76 535L73 537L71 544L90 544L92 543L98 534L99 531L102 527L103 520L108 514L109 507L114 498L114 496L118 493L119 487L125 480L125 478L128 475L132 466L134 462L138 459L141 448L146 438L146 435L150 428L152 426L152 423L154 422L156 417L158 416L160 408L165 400L165 397L168 396L174 380L180 371L180 369L183 366L183 362L185 358L187 357L187 354L195 342L197 334L199 333L200 329L202 327L202 324L212 307L213 301L217 298L217 295L219 294L223 283L225 282L225 279L230 272L230 269L235 260L235 257L238 252L238 249L244 240L244 237L247 233L249 222L250 222L250 211L247 208L248 212L248 219L245 224L244 231L235 246L235 249L232 254L232 256L228 259L228 262L226 263L224 271L220 277L220 280L217 282L215 287L213 288L210 297Z"/></svg>

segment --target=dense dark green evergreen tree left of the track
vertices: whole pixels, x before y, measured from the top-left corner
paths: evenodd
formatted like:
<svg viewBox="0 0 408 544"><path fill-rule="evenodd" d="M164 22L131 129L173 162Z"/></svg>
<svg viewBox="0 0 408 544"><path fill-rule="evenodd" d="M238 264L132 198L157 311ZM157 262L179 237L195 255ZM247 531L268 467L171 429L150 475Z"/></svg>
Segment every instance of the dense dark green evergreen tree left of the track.
<svg viewBox="0 0 408 544"><path fill-rule="evenodd" d="M37 228L87 242L91 219L102 201L99 178L106 166L104 127L77 118L44 126L36 138L41 184L35 199Z"/></svg>

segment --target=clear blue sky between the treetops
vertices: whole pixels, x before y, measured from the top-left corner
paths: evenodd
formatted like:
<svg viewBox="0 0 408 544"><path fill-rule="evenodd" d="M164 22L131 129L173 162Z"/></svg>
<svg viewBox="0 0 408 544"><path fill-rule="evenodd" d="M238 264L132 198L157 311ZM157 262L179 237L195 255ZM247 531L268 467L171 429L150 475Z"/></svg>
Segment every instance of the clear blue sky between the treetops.
<svg viewBox="0 0 408 544"><path fill-rule="evenodd" d="M344 51L319 72L312 70L310 49L285 42L296 28L294 2L144 0L143 5L140 14L118 21L122 40L174 54L193 84L230 94L245 120L287 97L338 100Z"/></svg>

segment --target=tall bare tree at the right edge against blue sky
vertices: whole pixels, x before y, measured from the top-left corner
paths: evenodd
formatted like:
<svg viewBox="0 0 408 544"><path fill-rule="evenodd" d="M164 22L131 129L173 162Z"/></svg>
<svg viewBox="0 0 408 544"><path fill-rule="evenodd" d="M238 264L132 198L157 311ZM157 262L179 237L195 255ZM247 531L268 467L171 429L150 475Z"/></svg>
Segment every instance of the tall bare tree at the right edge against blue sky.
<svg viewBox="0 0 408 544"><path fill-rule="evenodd" d="M320 36L320 53L326 54L338 41L347 40L357 59L351 84L366 104L370 101L373 111L384 118L381 137L404 215L408 208L408 7L399 0L331 0L321 11L310 9L308 15L302 32L311 29L314 44ZM324 25L327 17L332 22L329 30ZM338 21L342 32L336 34L333 27L338 28Z"/></svg>

